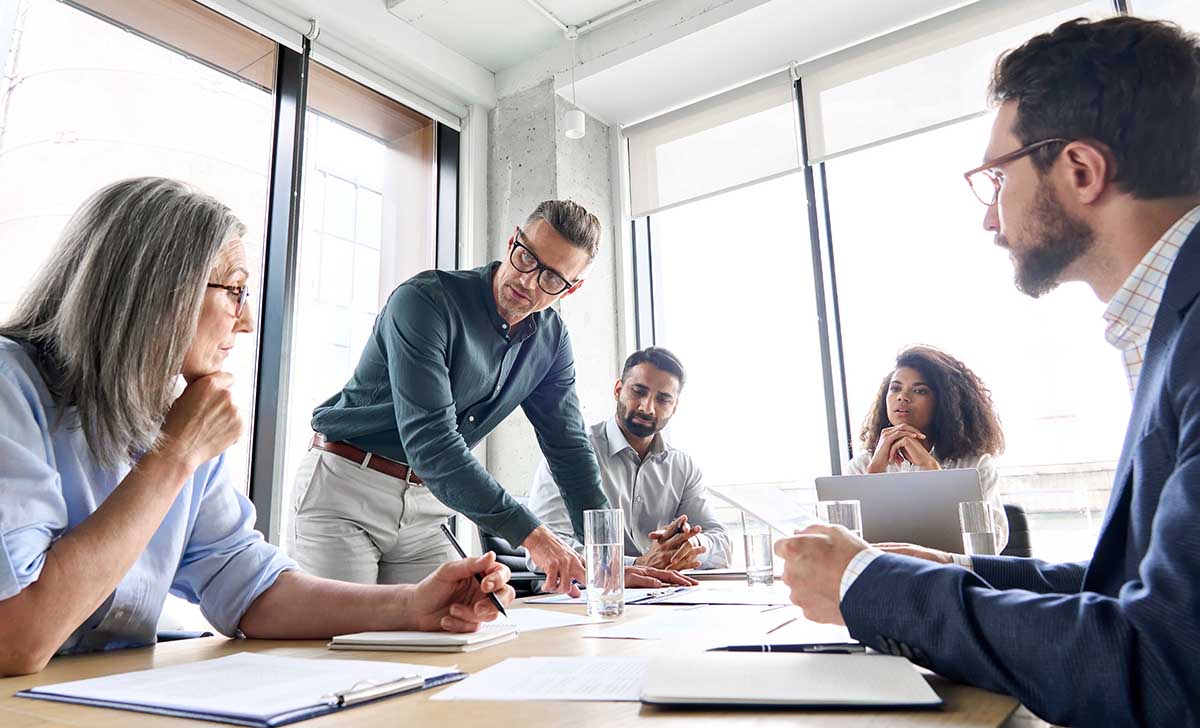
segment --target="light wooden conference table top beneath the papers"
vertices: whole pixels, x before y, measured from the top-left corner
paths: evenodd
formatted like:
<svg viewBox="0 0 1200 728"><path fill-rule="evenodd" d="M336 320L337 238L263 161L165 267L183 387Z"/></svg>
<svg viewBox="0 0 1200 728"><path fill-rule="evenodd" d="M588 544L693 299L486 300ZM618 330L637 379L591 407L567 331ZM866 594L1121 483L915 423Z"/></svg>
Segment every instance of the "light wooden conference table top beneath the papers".
<svg viewBox="0 0 1200 728"><path fill-rule="evenodd" d="M532 604L545 609L578 613L581 606ZM517 604L514 604L517 607ZM637 619L665 607L629 606L622 620ZM613 624L608 620L605 625ZM367 652L332 651L320 642L233 640L223 637L206 637L168 642L150 648L118 650L113 652L56 657L36 675L0 679L0 727L49 728L138 728L143 726L217 726L194 720L169 718L125 710L109 710L31 700L13 697L19 690L35 685L49 685L83 678L98 678L114 673L167 667L182 662L194 662L222 657L234 652L268 652L289 657L314 660L385 660L422 664L457 664L468 673L479 672L509 657L533 656L589 656L589 655L660 655L665 643L635 639L582 639L601 625L559 627L522 634L518 639L486 648L475 652ZM686 649L672 643L670 649ZM869 657L864 657L866 660ZM683 662L686 664L686 662ZM335 726L388 727L395 726L486 726L503 728L523 726L530 728L550 726L661 726L664 728L732 728L740 726L1000 726L1016 709L1015 699L985 690L956 685L941 676L928 674L926 679L946 702L935 711L799 711L799 710L666 710L638 703L476 703L431 702L437 690L380 700L353 708L296 726L312 728Z"/></svg>

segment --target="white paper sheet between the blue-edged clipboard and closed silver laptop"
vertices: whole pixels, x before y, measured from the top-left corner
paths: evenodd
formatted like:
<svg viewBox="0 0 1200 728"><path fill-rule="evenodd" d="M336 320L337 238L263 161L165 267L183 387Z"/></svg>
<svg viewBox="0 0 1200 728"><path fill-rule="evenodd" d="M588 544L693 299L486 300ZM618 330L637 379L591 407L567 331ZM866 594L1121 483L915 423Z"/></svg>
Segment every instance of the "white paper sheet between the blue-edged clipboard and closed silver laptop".
<svg viewBox="0 0 1200 728"><path fill-rule="evenodd" d="M510 657L430 699L636 703L648 666L648 657Z"/></svg>

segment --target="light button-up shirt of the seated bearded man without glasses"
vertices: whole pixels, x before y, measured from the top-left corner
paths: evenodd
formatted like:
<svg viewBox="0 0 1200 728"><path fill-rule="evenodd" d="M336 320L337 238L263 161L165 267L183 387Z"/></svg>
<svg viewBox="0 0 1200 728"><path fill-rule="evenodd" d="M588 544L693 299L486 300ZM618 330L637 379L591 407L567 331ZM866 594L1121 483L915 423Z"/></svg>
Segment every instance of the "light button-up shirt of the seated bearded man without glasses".
<svg viewBox="0 0 1200 728"><path fill-rule="evenodd" d="M696 536L708 549L700 556L701 568L728 566L730 535L706 498L700 468L685 452L671 447L658 433L646 459L640 459L616 416L588 427L588 439L600 463L601 489L608 504L625 515L626 564L650 549L650 531L686 513L690 525L704 529ZM529 489L529 510L563 541L576 550L583 549L545 458ZM535 567L532 561L529 566Z"/></svg>

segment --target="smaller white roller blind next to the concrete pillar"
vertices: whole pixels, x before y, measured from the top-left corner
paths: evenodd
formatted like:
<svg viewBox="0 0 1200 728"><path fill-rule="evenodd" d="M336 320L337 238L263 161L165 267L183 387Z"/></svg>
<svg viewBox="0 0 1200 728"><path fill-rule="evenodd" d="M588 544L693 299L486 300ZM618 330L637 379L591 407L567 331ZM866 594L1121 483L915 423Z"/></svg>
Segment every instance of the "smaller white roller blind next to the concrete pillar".
<svg viewBox="0 0 1200 728"><path fill-rule="evenodd" d="M634 217L800 167L787 72L625 130Z"/></svg>

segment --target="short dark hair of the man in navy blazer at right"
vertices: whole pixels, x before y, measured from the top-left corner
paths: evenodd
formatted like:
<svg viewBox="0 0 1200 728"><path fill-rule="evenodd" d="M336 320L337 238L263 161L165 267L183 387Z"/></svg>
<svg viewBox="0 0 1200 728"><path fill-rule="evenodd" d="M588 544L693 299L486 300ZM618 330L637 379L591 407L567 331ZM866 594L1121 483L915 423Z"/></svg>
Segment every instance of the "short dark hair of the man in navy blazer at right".
<svg viewBox="0 0 1200 728"><path fill-rule="evenodd" d="M1114 183L1138 199L1200 192L1200 37L1132 16L1063 23L1000 56L992 103L1018 102L1021 144L1108 146ZM1045 173L1062 145L1032 155Z"/></svg>

